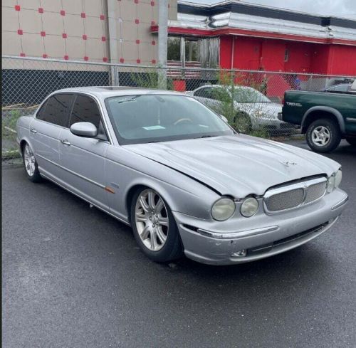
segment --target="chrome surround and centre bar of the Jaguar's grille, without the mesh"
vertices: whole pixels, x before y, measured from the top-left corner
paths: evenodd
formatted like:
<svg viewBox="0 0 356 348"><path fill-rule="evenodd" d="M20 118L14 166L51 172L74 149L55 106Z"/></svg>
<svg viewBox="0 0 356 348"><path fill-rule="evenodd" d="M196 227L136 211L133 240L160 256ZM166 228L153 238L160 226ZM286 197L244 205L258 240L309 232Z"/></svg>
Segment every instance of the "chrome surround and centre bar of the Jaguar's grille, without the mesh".
<svg viewBox="0 0 356 348"><path fill-rule="evenodd" d="M325 190L324 190L323 194L319 198L314 199L313 201L310 201L308 203L305 203L305 199L306 199L306 196L307 196L308 188L310 186L313 186L315 184L321 184L323 182L325 182L325 184L326 184L327 181L328 181L328 179L325 176L321 176L319 178L309 179L309 180L297 182L295 184L290 184L290 185L286 185L286 186L282 186L282 187L277 187L276 189L268 189L266 191L266 193L264 194L264 196L263 196L263 210L265 211L266 214L273 215L273 214L281 213L281 212L284 212L284 211L290 211L290 210L293 210L293 209L298 209L298 208L300 208L300 206L308 206L309 204L315 203L315 201L319 201L319 199L322 199L323 196L325 196L326 189L327 189L328 185L325 185ZM295 190L295 189L303 189L303 191L304 191L303 200L302 200L302 202L300 204L298 204L298 206L293 206L292 208L282 209L282 210L278 210L278 211L269 211L268 210L266 201L268 201L268 199L271 196L274 196L276 194L283 194L285 192L292 191L292 190Z"/></svg>

